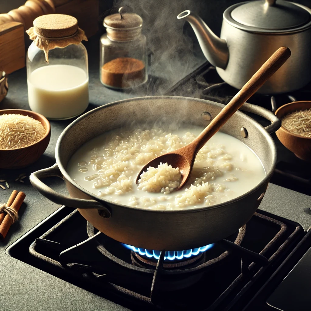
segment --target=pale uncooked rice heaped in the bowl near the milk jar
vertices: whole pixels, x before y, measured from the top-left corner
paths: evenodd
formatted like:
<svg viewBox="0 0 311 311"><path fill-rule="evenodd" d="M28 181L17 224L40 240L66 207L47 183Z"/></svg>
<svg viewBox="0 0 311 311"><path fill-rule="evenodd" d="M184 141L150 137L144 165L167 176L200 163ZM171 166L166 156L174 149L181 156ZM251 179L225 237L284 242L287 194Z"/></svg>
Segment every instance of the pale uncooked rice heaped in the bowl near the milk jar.
<svg viewBox="0 0 311 311"><path fill-rule="evenodd" d="M17 149L38 142L46 133L42 123L21 114L0 115L0 149Z"/></svg>

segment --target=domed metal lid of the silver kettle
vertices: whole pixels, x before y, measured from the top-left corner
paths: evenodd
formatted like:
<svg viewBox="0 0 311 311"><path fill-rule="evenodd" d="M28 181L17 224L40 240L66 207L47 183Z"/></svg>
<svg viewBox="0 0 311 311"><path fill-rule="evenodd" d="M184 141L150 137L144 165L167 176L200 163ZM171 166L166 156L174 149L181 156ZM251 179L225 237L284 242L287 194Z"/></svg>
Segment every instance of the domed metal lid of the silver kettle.
<svg viewBox="0 0 311 311"><path fill-rule="evenodd" d="M311 19L303 7L284 0L244 2L232 10L231 17L239 24L266 30L296 28Z"/></svg>

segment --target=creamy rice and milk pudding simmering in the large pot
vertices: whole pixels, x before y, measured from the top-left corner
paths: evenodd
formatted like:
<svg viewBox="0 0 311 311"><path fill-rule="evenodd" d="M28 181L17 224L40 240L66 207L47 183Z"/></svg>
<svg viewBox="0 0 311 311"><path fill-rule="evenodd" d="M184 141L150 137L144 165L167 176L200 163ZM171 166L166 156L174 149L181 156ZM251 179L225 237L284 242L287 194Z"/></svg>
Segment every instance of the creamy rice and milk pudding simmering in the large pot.
<svg viewBox="0 0 311 311"><path fill-rule="evenodd" d="M243 195L264 179L265 170L258 156L238 139L217 132L198 152L190 180L182 189L174 191L177 168L167 165L161 168L162 175L153 175L144 180L144 186L137 186L137 174L146 163L187 145L204 129L193 125L181 128L120 128L105 132L73 154L67 172L81 187L108 201L156 210L223 203ZM165 183L169 178L174 179L172 183Z"/></svg>

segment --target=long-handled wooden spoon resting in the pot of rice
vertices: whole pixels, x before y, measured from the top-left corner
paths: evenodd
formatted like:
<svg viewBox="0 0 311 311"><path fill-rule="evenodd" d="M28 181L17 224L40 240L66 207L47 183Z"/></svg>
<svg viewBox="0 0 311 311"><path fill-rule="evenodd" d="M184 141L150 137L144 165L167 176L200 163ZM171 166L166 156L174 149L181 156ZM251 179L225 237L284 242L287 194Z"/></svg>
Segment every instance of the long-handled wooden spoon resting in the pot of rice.
<svg viewBox="0 0 311 311"><path fill-rule="evenodd" d="M149 166L158 167L160 162L179 167L181 172L181 183L178 190L187 183L195 157L205 143L229 120L229 118L285 63L290 57L290 49L282 47L258 69L249 79L242 89L230 100L230 102L220 111L219 114L207 125L202 133L193 142L182 148L165 153L148 162L139 172L136 183L140 175Z"/></svg>

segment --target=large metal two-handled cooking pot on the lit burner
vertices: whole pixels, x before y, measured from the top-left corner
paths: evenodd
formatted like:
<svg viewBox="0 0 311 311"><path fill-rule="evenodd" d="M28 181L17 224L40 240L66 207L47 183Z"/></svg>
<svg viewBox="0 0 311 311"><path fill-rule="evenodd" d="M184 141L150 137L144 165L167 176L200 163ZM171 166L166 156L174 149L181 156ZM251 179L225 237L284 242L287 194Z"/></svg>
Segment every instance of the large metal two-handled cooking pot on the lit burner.
<svg viewBox="0 0 311 311"><path fill-rule="evenodd" d="M93 109L73 121L58 138L56 164L30 175L30 182L51 201L75 207L92 225L112 239L155 250L187 250L224 239L242 227L257 210L276 164L276 146L269 133L281 121L269 110L244 104L242 109L262 115L272 124L263 128L237 111L221 128L249 146L262 161L265 178L252 190L228 202L187 210L149 210L110 202L90 193L72 180L66 171L68 160L85 142L124 124L173 122L179 126L206 127L224 105L209 100L149 96L116 101ZM63 177L71 197L58 194L40 179Z"/></svg>

